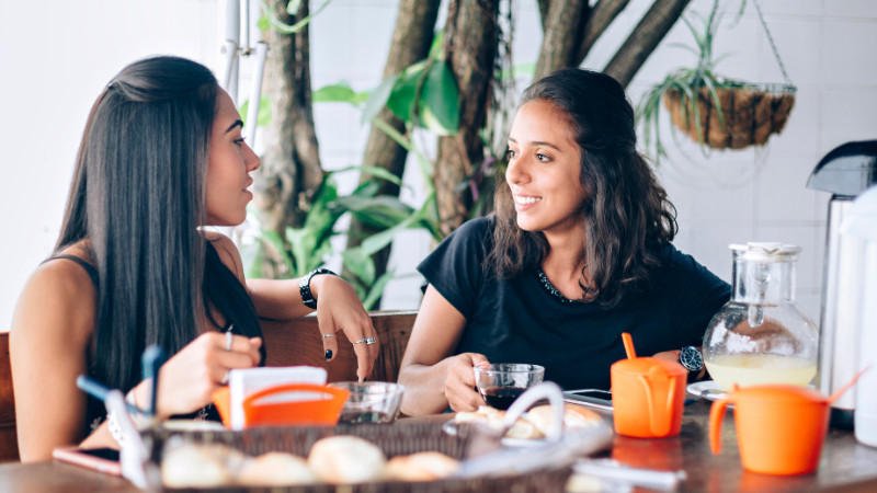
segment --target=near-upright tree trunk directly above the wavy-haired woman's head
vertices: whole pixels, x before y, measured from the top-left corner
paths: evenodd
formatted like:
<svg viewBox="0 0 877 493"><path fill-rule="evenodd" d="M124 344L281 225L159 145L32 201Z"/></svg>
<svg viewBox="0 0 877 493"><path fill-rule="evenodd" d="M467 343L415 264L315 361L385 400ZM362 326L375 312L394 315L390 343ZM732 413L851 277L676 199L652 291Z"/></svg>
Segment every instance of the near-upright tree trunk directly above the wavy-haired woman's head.
<svg viewBox="0 0 877 493"><path fill-rule="evenodd" d="M544 36L535 79L565 67L578 67L579 47L588 19L588 0L555 0L548 5L548 16L543 22Z"/></svg>

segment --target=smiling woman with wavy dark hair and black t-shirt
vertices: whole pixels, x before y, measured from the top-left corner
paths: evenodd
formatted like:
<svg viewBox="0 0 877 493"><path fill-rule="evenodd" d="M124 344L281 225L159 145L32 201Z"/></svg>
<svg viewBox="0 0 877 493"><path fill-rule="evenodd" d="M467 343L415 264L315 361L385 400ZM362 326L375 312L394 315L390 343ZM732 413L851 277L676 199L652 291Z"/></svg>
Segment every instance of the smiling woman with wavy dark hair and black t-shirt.
<svg viewBox="0 0 877 493"><path fill-rule="evenodd" d="M730 288L671 244L675 209L636 144L608 76L563 69L524 91L496 214L418 267L429 285L399 374L403 413L483 405L472 368L488 362L542 365L567 390L608 389L622 332L642 355L697 352Z"/></svg>

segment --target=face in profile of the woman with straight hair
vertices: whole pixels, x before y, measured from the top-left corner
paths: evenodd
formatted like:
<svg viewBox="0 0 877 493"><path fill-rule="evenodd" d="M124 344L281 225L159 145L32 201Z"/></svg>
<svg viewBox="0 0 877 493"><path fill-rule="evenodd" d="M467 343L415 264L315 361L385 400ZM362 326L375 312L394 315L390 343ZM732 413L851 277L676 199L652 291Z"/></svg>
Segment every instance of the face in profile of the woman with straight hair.
<svg viewBox="0 0 877 493"><path fill-rule="evenodd" d="M247 204L253 199L247 190L253 183L250 172L261 161L243 141L242 129L231 98L218 90L207 163L207 226L237 226L247 218Z"/></svg>

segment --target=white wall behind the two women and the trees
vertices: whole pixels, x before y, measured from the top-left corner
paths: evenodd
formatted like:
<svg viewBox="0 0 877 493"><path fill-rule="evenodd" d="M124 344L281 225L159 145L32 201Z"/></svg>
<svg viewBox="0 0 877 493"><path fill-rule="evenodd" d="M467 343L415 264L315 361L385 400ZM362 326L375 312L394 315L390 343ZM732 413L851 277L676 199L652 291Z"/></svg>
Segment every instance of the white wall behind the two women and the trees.
<svg viewBox="0 0 877 493"><path fill-rule="evenodd" d="M322 0L315 2L321 3ZM219 68L218 0L49 0L34 9L25 0L0 7L0 148L7 156L0 194L0 330L8 328L21 286L52 251L72 162L89 107L124 65L151 54L175 54ZM585 66L600 69L650 0L633 0ZM705 160L674 156L659 173L679 208L676 244L730 280L728 243L773 240L801 245L798 297L819 314L827 194L805 188L816 162L835 146L877 138L877 2L868 0L761 1L798 101L786 130L763 150L714 152ZM311 28L314 85L348 80L363 90L379 81L396 14L395 0L334 0ZM705 11L708 0L695 0ZM535 1L516 2L515 64L534 61L540 39ZM629 87L636 100L646 87L686 62L669 43L687 42L676 25ZM724 27L717 53L736 55L719 65L727 76L779 82L766 37L749 2L740 24ZM523 85L521 87L523 89ZM341 104L315 110L321 157L329 169L358 163L367 128ZM406 181L417 200L417 170ZM758 177L734 187L721 181ZM694 176L694 177L692 177ZM352 184L351 176L346 186ZM414 308L420 280L412 275L430 249L423 234L405 233L391 261L408 277L391 283L386 308ZM405 250L405 255L399 251Z"/></svg>

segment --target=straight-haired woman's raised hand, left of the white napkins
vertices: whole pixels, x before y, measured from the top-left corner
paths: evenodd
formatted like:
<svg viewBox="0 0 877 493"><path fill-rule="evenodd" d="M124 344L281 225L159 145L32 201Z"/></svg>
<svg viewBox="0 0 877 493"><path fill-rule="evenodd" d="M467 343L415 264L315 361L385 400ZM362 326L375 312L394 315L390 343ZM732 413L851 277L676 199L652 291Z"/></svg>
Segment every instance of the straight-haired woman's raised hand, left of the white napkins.
<svg viewBox="0 0 877 493"><path fill-rule="evenodd" d="M228 382L229 371L259 365L261 346L261 337L213 331L201 334L161 366L158 417L192 413L209 404L213 392ZM147 387L140 383L135 390L140 405L148 402Z"/></svg>

